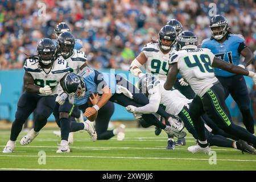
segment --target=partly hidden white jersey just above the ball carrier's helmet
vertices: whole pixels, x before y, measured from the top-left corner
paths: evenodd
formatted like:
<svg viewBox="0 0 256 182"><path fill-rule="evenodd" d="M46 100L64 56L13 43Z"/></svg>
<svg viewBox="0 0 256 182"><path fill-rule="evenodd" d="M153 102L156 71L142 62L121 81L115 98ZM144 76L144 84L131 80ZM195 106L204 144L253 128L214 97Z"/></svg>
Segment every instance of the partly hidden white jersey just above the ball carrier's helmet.
<svg viewBox="0 0 256 182"><path fill-rule="evenodd" d="M64 59L64 57L60 56L60 59ZM78 73L79 68L86 62L87 58L84 52L74 49L72 56L64 60L68 62L71 72Z"/></svg>

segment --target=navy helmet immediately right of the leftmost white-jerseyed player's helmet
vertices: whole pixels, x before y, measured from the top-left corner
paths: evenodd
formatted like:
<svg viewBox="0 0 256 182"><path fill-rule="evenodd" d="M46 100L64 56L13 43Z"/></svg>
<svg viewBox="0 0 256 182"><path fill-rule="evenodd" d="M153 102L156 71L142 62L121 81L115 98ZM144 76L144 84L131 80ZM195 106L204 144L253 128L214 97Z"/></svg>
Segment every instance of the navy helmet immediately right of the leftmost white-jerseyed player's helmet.
<svg viewBox="0 0 256 182"><path fill-rule="evenodd" d="M75 47L75 38L70 32L62 32L57 38L57 43L59 45L58 52L64 59L72 55Z"/></svg>

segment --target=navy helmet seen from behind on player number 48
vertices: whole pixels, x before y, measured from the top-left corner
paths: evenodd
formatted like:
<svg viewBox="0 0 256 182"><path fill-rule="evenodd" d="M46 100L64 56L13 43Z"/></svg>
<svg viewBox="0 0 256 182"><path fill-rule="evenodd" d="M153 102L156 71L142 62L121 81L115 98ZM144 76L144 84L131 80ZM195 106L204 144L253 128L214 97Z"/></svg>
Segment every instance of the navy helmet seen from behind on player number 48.
<svg viewBox="0 0 256 182"><path fill-rule="evenodd" d="M197 37L191 31L183 31L176 38L176 50L181 49L196 49L197 48Z"/></svg>

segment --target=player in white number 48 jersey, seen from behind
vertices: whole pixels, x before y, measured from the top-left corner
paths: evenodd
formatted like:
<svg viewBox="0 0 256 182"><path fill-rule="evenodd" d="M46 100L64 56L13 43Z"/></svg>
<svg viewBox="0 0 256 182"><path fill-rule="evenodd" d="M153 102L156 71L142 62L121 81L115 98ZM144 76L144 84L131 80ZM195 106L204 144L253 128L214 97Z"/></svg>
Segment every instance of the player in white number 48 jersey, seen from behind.
<svg viewBox="0 0 256 182"><path fill-rule="evenodd" d="M254 82L256 82L256 74L218 59L210 52L210 49L197 48L197 37L191 31L181 32L176 41L177 52L170 57L170 69L164 89L172 89L177 73L180 72L196 93L196 97L189 107L189 114L198 136L198 145L188 147L188 151L192 153L210 152L209 143L205 137L204 122L199 119L204 113L226 133L255 145L256 137L232 122L228 107L225 104L223 86L214 76L213 67L250 76Z"/></svg>

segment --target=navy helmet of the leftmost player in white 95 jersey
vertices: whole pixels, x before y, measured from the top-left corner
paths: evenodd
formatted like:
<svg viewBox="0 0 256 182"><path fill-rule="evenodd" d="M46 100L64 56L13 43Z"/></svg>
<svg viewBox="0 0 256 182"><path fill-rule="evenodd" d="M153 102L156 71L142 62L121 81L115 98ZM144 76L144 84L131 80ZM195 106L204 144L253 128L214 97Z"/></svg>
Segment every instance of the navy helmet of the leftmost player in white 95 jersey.
<svg viewBox="0 0 256 182"><path fill-rule="evenodd" d="M52 64L56 60L57 47L52 39L42 39L36 48L39 62L44 65Z"/></svg>

